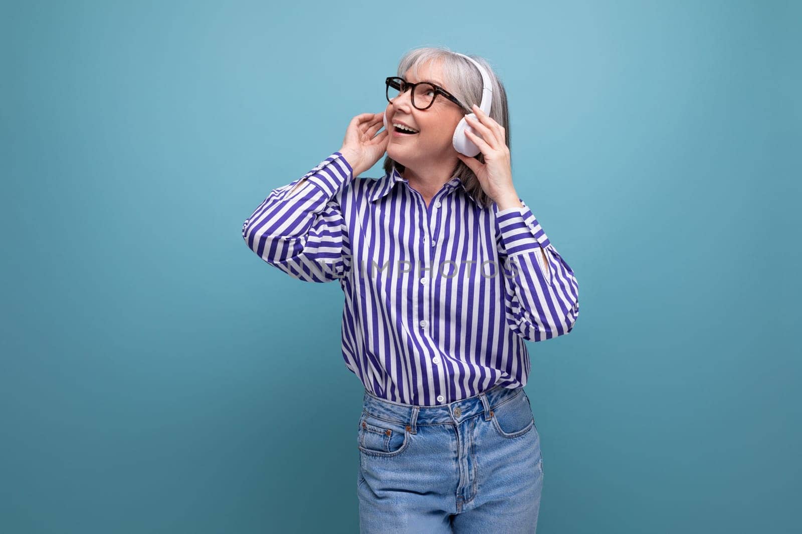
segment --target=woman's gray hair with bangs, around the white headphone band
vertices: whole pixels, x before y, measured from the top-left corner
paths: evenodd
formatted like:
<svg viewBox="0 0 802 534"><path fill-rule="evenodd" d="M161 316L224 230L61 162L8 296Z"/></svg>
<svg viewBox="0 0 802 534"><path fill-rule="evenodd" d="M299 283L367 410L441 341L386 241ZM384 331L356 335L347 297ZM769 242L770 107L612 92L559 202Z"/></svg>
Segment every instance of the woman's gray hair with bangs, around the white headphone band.
<svg viewBox="0 0 802 534"><path fill-rule="evenodd" d="M465 55L468 55L481 66L484 66L484 69L487 70L490 75L493 90L490 117L504 127L504 142L507 143L507 147L512 151L512 145L510 144L507 93L504 90L504 85L502 85L486 59L473 54ZM422 48L410 50L407 54L404 54L399 62L398 75L403 77L407 70L411 69L413 76L418 78L418 66L425 65L432 61L441 62L444 76L443 82L447 84L446 89L448 89L449 93L453 94L457 100L462 102L468 109L471 109L473 104L479 106L483 88L482 75L479 73L479 70L476 69L476 65L468 61L468 59L454 53L452 50L448 50L445 46L424 46ZM440 98L442 98L442 95L440 95ZM467 114L467 112L464 111L464 114ZM484 163L484 155L482 155L481 152L474 157L481 163ZM390 173L394 164L399 171L403 172L403 165L391 159L390 156L384 159L384 171ZM484 207L491 206L493 201L484 193L479 180L476 179L476 175L473 174L470 167L459 159L450 177L454 176L460 177L462 183L464 183L465 189L468 190L468 193L470 193L478 203Z"/></svg>

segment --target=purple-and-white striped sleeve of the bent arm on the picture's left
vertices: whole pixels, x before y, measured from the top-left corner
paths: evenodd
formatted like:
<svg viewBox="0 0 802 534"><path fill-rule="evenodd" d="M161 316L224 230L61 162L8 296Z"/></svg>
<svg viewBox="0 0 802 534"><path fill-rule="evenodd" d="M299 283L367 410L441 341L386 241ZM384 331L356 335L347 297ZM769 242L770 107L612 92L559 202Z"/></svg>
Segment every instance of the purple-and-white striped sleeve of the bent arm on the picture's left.
<svg viewBox="0 0 802 534"><path fill-rule="evenodd" d="M345 278L350 241L337 194L353 179L350 164L334 152L306 175L270 191L242 224L242 239L293 278L321 283Z"/></svg>

